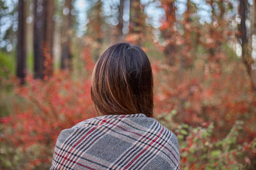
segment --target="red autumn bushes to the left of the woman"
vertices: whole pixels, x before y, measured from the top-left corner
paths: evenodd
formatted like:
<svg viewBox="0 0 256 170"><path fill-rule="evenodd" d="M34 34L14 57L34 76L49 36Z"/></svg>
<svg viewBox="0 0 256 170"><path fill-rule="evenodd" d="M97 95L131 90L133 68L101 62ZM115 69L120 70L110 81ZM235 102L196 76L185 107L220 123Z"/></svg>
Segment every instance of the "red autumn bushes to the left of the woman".
<svg viewBox="0 0 256 170"><path fill-rule="evenodd" d="M89 54L87 49L84 53ZM87 63L85 70L91 74L93 62L89 62L87 56L84 56L84 61ZM49 168L60 131L95 116L89 76L72 80L71 74L61 72L39 80L30 75L25 86L20 86L15 78L1 80L5 85L14 83L15 96L12 113L0 119L4 133L1 141L6 148L3 150L9 152L11 146L15 148L11 154L20 156L2 158L1 168Z"/></svg>

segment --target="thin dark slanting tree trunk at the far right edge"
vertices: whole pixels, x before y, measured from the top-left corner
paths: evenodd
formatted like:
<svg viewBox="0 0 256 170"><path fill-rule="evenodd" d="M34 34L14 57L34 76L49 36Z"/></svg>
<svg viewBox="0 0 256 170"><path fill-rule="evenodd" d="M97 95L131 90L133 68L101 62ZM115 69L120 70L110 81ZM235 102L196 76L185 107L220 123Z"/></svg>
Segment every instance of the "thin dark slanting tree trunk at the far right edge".
<svg viewBox="0 0 256 170"><path fill-rule="evenodd" d="M255 1L254 1L255 3ZM248 53L247 45L248 45L248 39L247 39L247 31L246 31L246 10L247 10L247 0L240 0L240 7L239 7L239 14L241 17L241 23L238 27L240 33L238 35L238 38L241 39L241 46L242 46L242 61L245 64L247 74L249 75L250 82L251 82L251 89L254 92L254 96L256 97L256 84L253 76L253 70L251 69L251 63L252 58Z"/></svg>

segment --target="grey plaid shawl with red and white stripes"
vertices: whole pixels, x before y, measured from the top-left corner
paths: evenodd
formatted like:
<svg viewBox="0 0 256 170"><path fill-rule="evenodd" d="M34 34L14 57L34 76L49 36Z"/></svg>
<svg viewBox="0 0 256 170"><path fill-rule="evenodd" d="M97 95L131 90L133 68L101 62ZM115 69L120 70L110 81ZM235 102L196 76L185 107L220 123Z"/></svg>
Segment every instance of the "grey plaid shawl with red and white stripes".
<svg viewBox="0 0 256 170"><path fill-rule="evenodd" d="M61 131L51 169L179 169L177 138L144 114L90 118Z"/></svg>

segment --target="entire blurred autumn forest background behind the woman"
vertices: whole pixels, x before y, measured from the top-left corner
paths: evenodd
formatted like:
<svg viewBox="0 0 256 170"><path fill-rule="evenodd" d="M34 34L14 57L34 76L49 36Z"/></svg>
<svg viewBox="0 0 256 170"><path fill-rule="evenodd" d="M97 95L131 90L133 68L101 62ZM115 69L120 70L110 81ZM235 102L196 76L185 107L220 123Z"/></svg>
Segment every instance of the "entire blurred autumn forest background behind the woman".
<svg viewBox="0 0 256 170"><path fill-rule="evenodd" d="M0 169L49 169L122 41L150 57L181 169L256 169L255 0L0 0Z"/></svg>

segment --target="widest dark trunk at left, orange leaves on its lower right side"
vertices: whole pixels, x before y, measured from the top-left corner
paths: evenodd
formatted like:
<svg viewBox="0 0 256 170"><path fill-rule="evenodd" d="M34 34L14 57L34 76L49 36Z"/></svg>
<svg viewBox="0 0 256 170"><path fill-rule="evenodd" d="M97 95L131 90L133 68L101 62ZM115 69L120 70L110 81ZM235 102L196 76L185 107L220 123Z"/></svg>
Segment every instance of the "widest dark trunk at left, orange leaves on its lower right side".
<svg viewBox="0 0 256 170"><path fill-rule="evenodd" d="M34 77L52 74L53 1L34 1Z"/></svg>

